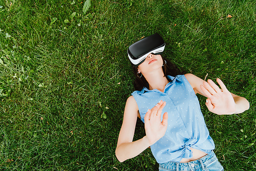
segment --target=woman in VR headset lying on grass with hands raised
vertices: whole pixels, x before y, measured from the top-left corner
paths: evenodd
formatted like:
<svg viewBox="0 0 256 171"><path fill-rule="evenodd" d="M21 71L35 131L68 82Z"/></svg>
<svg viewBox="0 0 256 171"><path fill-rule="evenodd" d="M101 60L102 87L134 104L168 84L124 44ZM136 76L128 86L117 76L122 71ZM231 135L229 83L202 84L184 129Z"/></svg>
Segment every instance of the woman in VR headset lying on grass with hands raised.
<svg viewBox="0 0 256 171"><path fill-rule="evenodd" d="M136 75L135 89L125 105L116 156L122 162L151 146L159 170L223 170L200 110L197 93L207 97L212 113L230 115L249 109L249 102L230 93L217 79L207 82L193 74L180 74L159 53L164 50L159 34L141 39L128 54ZM146 135L133 141L137 116Z"/></svg>

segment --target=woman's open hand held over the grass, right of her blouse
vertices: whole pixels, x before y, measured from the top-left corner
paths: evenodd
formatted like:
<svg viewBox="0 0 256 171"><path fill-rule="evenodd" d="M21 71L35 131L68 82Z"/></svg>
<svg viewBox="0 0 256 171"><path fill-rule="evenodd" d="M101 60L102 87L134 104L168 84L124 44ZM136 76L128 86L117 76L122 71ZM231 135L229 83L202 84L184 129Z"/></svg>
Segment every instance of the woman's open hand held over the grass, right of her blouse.
<svg viewBox="0 0 256 171"><path fill-rule="evenodd" d="M212 113L218 115L233 114L236 112L236 103L234 102L232 94L219 78L217 78L217 82L221 89L210 79L208 79L207 82L204 81L203 85L200 86L207 97L205 104Z"/></svg>

